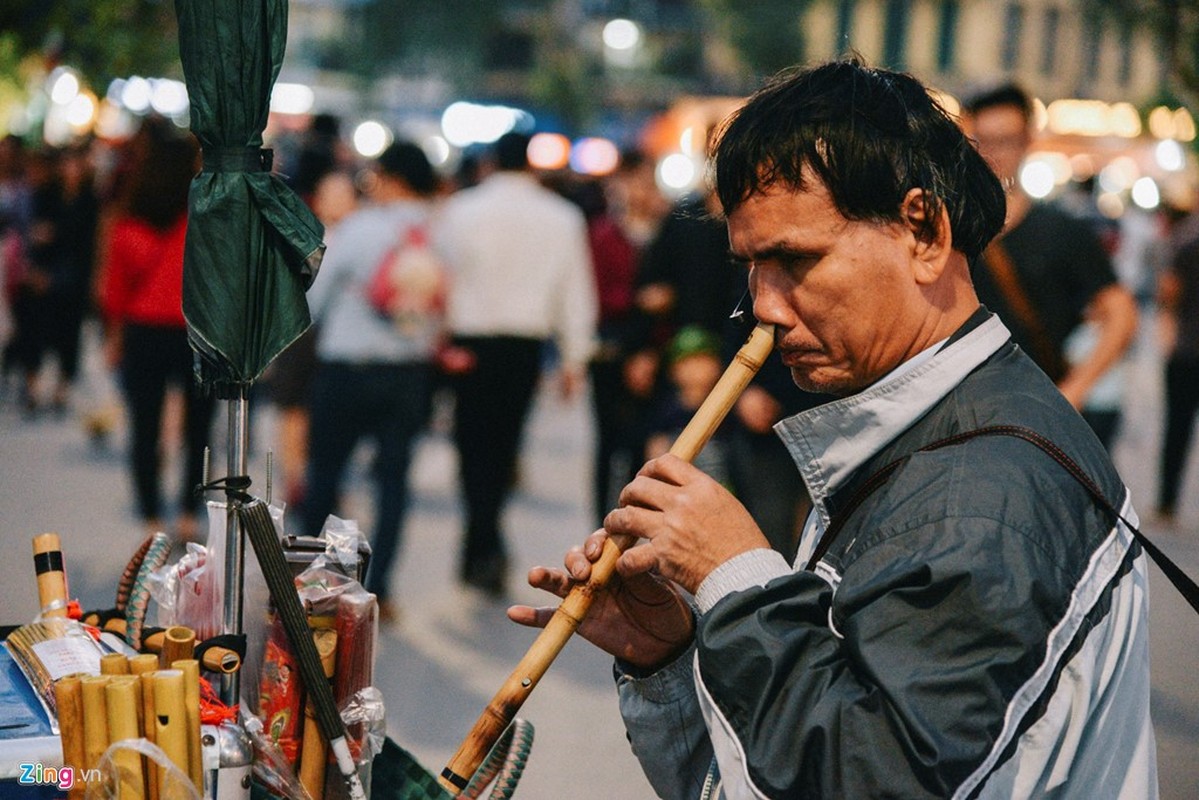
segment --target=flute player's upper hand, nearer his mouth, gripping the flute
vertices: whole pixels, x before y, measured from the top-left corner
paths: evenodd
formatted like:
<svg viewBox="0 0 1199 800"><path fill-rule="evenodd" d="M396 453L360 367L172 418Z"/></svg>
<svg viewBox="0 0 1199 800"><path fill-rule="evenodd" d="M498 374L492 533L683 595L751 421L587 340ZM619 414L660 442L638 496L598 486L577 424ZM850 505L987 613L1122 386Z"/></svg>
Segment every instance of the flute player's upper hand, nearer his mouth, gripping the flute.
<svg viewBox="0 0 1199 800"><path fill-rule="evenodd" d="M656 572L692 594L730 558L770 543L723 486L677 456L645 464L604 518L609 534L647 540L620 557L623 576Z"/></svg>

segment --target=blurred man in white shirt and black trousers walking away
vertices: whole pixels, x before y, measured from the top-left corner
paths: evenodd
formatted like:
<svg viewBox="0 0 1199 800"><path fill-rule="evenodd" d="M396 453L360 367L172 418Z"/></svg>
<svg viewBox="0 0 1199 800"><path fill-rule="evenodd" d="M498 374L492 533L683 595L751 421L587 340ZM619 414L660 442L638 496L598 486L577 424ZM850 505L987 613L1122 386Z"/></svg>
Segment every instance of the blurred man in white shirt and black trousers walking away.
<svg viewBox="0 0 1199 800"><path fill-rule="evenodd" d="M460 578L502 594L507 555L500 515L544 347L556 345L564 397L583 385L597 301L586 222L529 168L529 137L507 133L494 172L452 196L435 243L450 271L446 325L454 359L454 444L466 504Z"/></svg>

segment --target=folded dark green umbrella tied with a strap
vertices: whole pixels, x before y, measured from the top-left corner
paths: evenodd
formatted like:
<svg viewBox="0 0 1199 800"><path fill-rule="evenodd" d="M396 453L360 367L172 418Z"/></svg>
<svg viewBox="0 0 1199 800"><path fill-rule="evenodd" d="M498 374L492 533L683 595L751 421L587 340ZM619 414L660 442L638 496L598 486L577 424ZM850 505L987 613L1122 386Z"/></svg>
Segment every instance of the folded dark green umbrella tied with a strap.
<svg viewBox="0 0 1199 800"><path fill-rule="evenodd" d="M287 0L176 0L175 11L204 152L188 197L183 315L199 378L234 397L312 324L305 290L324 228L263 150Z"/></svg>

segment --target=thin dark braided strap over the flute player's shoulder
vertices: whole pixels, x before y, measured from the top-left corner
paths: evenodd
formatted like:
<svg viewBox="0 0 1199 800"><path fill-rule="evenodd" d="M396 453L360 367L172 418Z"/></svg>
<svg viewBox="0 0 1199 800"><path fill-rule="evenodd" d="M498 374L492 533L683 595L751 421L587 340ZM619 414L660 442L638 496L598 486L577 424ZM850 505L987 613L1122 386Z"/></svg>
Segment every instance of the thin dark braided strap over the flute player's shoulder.
<svg viewBox="0 0 1199 800"><path fill-rule="evenodd" d="M1032 445L1036 445L1042 451L1044 451L1050 458L1062 465L1071 476L1078 481L1087 494L1095 500L1095 503L1107 511L1113 521L1119 519L1122 522L1132 535L1137 539L1137 542L1145 548L1149 557L1153 559L1153 563L1162 570L1174 588L1177 589L1183 599L1191 607L1199 613L1199 587L1192 581L1186 572L1183 572L1177 564L1171 561L1162 551L1157 548L1149 539L1137 529L1131 522L1125 519L1115 506L1103 495L1099 487L1091 480L1091 476L1083 471L1083 468L1078 465L1070 456L1067 456L1061 447L1054 444L1050 439L1043 437L1042 434L1032 431L1030 428L1016 426L1016 425L994 425L984 428L976 428L974 431L964 431L952 437L945 439L938 439L936 441L924 445L916 452L928 452L932 450L940 450L941 447L948 447L951 445L962 444L969 439L976 439L978 437L1016 437L1017 439L1023 439ZM825 535L820 537L820 542L817 545L815 552L812 554L812 559L808 561L808 570L814 570L815 565L824 558L825 553L832 546L833 540L840 534L842 528L845 527L845 522L854 513L855 510L862 504L862 501L874 493L880 486L886 483L887 479L891 477L892 473L896 471L902 464L904 464L911 456L904 456L898 458L879 471L874 473L866 480L866 482L858 487L858 489L850 497L849 501L845 504L845 509L838 513L833 521L830 523L829 529Z"/></svg>

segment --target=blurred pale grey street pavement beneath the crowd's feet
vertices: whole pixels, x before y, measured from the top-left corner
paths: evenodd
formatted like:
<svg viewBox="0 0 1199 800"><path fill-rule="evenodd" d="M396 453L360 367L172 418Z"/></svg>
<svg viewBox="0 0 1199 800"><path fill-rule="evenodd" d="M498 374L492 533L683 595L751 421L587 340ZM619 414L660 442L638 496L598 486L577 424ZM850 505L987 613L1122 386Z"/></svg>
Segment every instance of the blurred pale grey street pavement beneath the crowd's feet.
<svg viewBox="0 0 1199 800"><path fill-rule="evenodd" d="M1145 533L1192 576L1199 576L1199 453L1188 467L1177 524L1151 518L1161 438L1161 363L1145 333L1126 373L1126 421L1114 456L1133 491ZM85 411L112 404L115 390L89 339L86 369L76 408L62 419L24 420L6 392L0 404L0 622L37 612L30 540L61 534L71 594L85 608L113 604L118 577L145 533L134 515L123 461L123 425L106 444L91 440ZM548 387L547 387L548 389ZM444 419L444 417L440 417ZM215 426L213 475L224 464L223 411ZM538 395L520 463L519 489L510 504L512 575L510 601L542 602L525 585L528 567L556 565L567 547L591 529L591 422L583 402ZM265 453L275 419L255 404L251 423L251 475L265 482ZM1199 449L1197 449L1199 450ZM370 528L369 449L355 459L343 516ZM412 470L412 506L393 595L397 624L381 630L376 685L387 706L387 732L430 771L441 768L469 733L487 702L528 650L534 632L507 621L507 602L462 588L456 579L460 506L457 461L439 423L421 441ZM171 470L171 475L177 470ZM290 517L285 517L289 523ZM247 551L252 558L252 551ZM1199 796L1199 618L1152 569L1152 714L1157 730L1162 796ZM536 736L518 798L651 798L629 752L616 714L610 661L572 640L520 711Z"/></svg>

